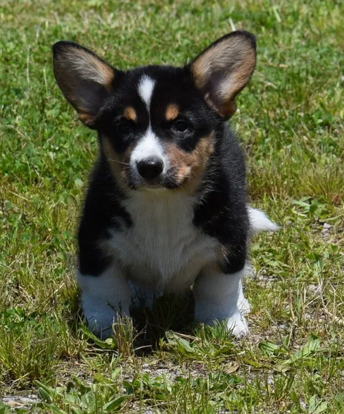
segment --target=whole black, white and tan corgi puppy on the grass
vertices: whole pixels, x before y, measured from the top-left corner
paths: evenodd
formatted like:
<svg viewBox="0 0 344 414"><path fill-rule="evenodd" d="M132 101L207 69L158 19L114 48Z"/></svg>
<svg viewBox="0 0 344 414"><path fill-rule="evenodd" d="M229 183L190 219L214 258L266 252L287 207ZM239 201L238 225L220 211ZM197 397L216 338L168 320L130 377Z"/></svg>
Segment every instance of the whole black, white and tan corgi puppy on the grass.
<svg viewBox="0 0 344 414"><path fill-rule="evenodd" d="M248 240L277 228L248 207L244 155L226 123L255 69L255 37L226 34L180 68L119 70L69 41L53 54L58 86L99 138L78 231L89 327L106 338L133 293L149 305L193 287L197 322L246 335Z"/></svg>

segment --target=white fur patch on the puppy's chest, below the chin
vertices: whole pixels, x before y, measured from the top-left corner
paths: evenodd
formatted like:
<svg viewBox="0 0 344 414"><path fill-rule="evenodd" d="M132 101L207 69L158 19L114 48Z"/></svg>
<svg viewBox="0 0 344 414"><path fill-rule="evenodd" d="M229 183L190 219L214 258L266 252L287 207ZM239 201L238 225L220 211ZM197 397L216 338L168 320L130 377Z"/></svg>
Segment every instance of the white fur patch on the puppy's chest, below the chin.
<svg viewBox="0 0 344 414"><path fill-rule="evenodd" d="M193 203L186 194L134 192L125 200L133 225L113 230L108 247L142 286L180 291L191 286L215 257L217 240L193 225Z"/></svg>

